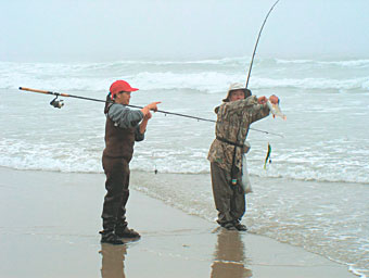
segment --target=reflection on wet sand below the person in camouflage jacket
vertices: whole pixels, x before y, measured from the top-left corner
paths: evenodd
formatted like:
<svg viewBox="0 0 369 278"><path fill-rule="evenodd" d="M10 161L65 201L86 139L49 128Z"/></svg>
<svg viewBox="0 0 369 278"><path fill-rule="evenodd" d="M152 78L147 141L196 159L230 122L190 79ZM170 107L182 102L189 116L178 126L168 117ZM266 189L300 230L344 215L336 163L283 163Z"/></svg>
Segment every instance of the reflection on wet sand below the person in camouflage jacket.
<svg viewBox="0 0 369 278"><path fill-rule="evenodd" d="M211 277L252 277L251 269L244 267L244 245L240 232L220 228Z"/></svg>

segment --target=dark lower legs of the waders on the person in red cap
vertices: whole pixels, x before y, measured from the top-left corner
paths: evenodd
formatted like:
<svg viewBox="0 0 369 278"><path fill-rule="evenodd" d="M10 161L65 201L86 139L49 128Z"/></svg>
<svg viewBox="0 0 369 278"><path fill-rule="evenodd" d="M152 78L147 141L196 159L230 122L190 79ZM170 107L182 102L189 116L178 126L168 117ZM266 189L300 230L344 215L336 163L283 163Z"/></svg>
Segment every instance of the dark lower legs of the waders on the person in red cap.
<svg viewBox="0 0 369 278"><path fill-rule="evenodd" d="M129 197L129 165L124 159L102 157L103 168L106 175L102 211L102 226L110 232L127 226L126 204Z"/></svg>

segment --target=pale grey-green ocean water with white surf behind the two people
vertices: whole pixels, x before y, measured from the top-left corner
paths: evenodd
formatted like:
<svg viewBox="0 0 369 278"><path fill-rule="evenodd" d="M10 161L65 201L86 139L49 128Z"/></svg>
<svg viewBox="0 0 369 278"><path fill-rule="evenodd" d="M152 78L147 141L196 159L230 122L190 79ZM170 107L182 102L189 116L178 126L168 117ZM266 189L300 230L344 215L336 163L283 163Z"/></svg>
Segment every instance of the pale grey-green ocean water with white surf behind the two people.
<svg viewBox="0 0 369 278"><path fill-rule="evenodd" d="M103 103L62 98L65 105L59 110L49 105L52 96L20 91L20 86L105 99L111 83L126 79L140 88L132 93L133 105L162 101L161 110L216 119L214 108L230 83L246 80L249 63L249 58L0 62L0 166L102 173ZM281 136L251 130L247 138L249 172L257 189L247 197L252 232L301 245L368 276L369 60L259 58L249 88L256 96L280 97L287 115L287 121L269 116L252 126ZM212 219L209 184L170 190L148 176L157 169L203 180L209 175L206 155L213 140L212 123L155 113L131 162L142 179L138 188ZM268 143L272 162L264 169Z"/></svg>

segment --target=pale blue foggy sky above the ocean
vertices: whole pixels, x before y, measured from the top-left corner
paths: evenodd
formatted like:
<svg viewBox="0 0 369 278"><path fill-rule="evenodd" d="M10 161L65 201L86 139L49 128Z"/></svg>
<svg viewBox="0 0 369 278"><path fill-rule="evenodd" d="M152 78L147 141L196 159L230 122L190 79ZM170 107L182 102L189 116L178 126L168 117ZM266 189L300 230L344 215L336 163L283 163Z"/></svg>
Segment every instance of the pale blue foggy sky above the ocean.
<svg viewBox="0 0 369 278"><path fill-rule="evenodd" d="M275 0L0 0L0 61L250 56ZM258 55L368 58L368 0L280 0Z"/></svg>

